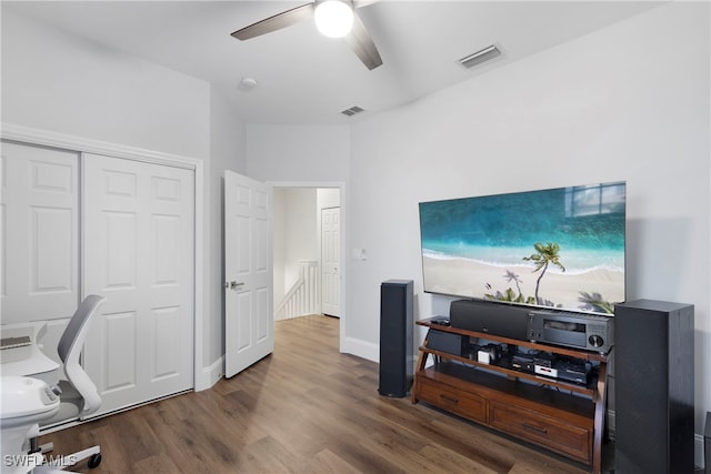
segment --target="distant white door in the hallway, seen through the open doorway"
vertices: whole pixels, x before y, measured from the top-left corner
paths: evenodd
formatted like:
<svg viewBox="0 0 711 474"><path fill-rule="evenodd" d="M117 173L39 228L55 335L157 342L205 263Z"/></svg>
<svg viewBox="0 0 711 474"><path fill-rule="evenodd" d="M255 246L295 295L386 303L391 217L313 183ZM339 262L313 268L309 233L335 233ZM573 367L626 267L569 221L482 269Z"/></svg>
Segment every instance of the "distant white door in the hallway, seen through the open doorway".
<svg viewBox="0 0 711 474"><path fill-rule="evenodd" d="M340 316L341 208L321 210L321 312Z"/></svg>

